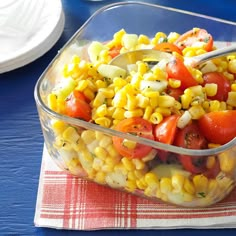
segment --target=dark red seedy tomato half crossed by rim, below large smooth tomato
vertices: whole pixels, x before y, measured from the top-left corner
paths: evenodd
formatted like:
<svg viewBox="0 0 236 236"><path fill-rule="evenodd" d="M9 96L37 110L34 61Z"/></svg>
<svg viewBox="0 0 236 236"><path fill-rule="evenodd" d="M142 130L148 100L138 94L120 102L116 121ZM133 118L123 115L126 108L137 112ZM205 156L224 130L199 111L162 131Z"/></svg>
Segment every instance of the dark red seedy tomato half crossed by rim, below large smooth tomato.
<svg viewBox="0 0 236 236"><path fill-rule="evenodd" d="M179 129L176 133L174 144L178 147L189 149L207 148L207 141L195 123ZM179 161L191 173L198 174L206 171L206 157L179 155Z"/></svg>

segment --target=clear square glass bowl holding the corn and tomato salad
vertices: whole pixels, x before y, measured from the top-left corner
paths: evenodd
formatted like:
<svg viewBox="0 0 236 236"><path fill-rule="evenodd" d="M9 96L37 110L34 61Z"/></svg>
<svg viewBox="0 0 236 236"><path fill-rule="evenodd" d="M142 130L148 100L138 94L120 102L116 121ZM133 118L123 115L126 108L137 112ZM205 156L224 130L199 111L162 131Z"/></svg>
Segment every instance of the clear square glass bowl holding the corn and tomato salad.
<svg viewBox="0 0 236 236"><path fill-rule="evenodd" d="M98 184L185 207L212 205L232 191L236 178L236 139L212 149L190 150L65 116L48 106L49 94L60 84L64 64L74 54L88 59L87 46L91 42L107 42L121 29L153 37L156 32L182 34L193 27L206 29L215 41L236 42L233 22L140 2L107 5L85 22L35 86L45 144L59 167ZM142 159L123 157L114 147L113 137L149 146L152 151ZM173 163L160 162L158 157L163 154ZM192 161L196 157L213 158L219 163L215 167L217 175L208 177L203 172L186 171L174 161L179 155L187 155Z"/></svg>

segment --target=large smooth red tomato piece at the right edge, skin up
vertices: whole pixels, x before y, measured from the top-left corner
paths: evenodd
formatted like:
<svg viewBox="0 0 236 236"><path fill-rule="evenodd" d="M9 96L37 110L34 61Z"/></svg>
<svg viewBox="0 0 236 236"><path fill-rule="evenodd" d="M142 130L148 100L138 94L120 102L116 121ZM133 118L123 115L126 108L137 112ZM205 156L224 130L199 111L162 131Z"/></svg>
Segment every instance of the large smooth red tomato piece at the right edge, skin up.
<svg viewBox="0 0 236 236"><path fill-rule="evenodd" d="M236 110L206 113L198 124L209 142L226 144L236 137Z"/></svg>

